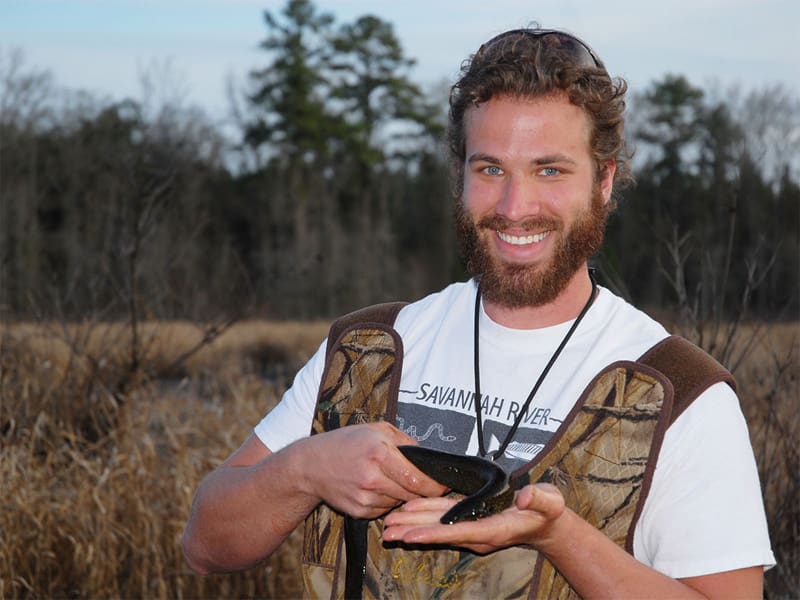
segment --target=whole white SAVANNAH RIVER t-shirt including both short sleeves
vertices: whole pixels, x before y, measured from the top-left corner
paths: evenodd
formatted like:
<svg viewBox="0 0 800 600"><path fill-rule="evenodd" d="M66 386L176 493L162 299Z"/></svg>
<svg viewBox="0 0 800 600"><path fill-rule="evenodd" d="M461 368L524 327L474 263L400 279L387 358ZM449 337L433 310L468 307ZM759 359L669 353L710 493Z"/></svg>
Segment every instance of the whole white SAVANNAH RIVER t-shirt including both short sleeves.
<svg viewBox="0 0 800 600"><path fill-rule="evenodd" d="M396 425L424 446L462 454L478 449L472 403L475 297L473 281L452 284L404 307L395 321L404 351ZM509 329L481 309L480 387L489 451L505 438L571 325ZM498 462L510 471L533 459L599 371L636 360L667 335L600 288ZM324 362L325 342L256 426L272 451L308 435ZM638 560L671 577L774 564L747 426L727 384L710 387L667 431L633 550Z"/></svg>

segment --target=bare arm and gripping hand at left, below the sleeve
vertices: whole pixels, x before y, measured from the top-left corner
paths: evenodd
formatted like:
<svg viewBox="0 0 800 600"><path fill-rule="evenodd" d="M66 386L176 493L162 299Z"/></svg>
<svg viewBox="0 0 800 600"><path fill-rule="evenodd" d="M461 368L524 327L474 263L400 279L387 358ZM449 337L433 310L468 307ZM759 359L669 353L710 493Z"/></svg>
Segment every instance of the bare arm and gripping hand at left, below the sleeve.
<svg viewBox="0 0 800 600"><path fill-rule="evenodd" d="M183 537L189 565L207 573L257 564L323 501L374 519L400 502L442 494L397 449L413 442L388 423L342 427L274 454L251 436L198 488Z"/></svg>

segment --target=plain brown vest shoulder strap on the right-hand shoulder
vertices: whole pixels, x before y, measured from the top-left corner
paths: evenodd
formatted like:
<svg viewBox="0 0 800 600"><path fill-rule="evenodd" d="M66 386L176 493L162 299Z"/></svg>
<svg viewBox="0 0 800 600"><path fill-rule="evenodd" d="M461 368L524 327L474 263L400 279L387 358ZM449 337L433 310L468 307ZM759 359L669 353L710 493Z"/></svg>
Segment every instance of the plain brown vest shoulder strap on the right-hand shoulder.
<svg viewBox="0 0 800 600"><path fill-rule="evenodd" d="M672 383L670 425L711 385L724 381L736 390L736 380L730 371L705 350L677 335L660 341L638 362L660 371Z"/></svg>

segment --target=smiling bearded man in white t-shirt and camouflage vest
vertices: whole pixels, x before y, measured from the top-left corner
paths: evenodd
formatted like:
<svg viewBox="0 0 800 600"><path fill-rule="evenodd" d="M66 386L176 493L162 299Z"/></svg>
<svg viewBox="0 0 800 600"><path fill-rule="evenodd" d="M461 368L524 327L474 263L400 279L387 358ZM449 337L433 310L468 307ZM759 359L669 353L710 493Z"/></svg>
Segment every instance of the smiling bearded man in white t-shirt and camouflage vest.
<svg viewBox="0 0 800 600"><path fill-rule="evenodd" d="M563 32L481 46L450 110L475 277L370 330L400 365L376 422L337 427L346 419L324 412L345 380L351 397L385 382L372 367L330 375L344 338L320 348L200 485L183 538L192 568L255 565L308 518L309 594L341 594L344 514L373 520L368 595L760 597L773 558L735 393L709 380L679 414L670 384L637 362L667 332L588 270L629 178L624 93ZM397 450L417 443L495 460L516 482L512 506L440 524L455 500Z"/></svg>

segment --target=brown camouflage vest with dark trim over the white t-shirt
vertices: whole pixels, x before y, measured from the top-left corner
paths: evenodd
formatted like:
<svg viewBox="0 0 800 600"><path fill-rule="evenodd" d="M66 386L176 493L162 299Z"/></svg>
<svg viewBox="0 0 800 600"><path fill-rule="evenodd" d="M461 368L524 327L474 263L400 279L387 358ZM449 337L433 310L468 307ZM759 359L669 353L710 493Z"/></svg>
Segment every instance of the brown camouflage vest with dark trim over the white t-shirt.
<svg viewBox="0 0 800 600"><path fill-rule="evenodd" d="M337 321L328 338L312 435L356 423L394 422L403 349L391 323L402 304L369 307ZM516 487L547 481L567 506L628 552L667 427L712 383L733 377L690 342L672 336L638 361L609 365L589 384ZM320 505L305 524L303 577L311 598L342 598L342 515ZM574 598L536 551L490 555L387 547L369 524L364 598Z"/></svg>

